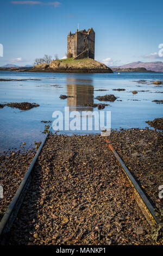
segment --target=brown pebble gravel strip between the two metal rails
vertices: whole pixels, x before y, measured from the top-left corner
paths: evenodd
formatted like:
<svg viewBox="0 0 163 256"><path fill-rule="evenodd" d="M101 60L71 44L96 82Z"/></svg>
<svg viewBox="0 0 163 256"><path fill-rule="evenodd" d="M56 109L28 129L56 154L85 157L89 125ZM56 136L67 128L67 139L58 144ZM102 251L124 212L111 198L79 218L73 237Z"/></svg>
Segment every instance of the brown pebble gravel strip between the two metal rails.
<svg viewBox="0 0 163 256"><path fill-rule="evenodd" d="M150 229L102 137L49 134L7 244L152 245Z"/></svg>

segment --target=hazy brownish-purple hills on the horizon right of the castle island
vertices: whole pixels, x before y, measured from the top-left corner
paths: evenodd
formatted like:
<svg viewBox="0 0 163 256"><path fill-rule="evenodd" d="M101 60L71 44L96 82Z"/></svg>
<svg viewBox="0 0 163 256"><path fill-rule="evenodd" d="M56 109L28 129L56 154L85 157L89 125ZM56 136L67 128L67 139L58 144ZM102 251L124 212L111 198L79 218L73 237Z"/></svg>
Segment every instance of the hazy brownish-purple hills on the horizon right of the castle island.
<svg viewBox="0 0 163 256"><path fill-rule="evenodd" d="M163 62L132 62L126 65L117 66L118 69L146 68L155 72L163 72Z"/></svg>

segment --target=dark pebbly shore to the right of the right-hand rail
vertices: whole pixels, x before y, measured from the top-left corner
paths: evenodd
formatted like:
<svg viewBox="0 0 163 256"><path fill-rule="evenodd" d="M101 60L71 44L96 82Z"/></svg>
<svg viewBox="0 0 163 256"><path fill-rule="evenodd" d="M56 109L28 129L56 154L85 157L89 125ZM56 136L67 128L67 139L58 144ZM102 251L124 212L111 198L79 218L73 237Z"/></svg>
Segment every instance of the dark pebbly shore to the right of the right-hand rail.
<svg viewBox="0 0 163 256"><path fill-rule="evenodd" d="M153 206L159 210L163 209L163 201L158 196L158 188L163 185L162 132L134 128L121 132L112 131L108 139L139 181Z"/></svg>

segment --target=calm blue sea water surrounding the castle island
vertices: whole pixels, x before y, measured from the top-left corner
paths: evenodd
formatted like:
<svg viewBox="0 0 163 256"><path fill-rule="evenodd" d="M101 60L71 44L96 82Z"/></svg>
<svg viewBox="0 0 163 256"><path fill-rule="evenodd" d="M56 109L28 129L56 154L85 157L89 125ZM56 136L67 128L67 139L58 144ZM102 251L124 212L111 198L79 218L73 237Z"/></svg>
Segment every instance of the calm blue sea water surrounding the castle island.
<svg viewBox="0 0 163 256"><path fill-rule="evenodd" d="M40 105L29 111L10 107L0 109L0 152L8 148L18 148L22 142L26 142L28 147L35 141L40 141L44 136L41 132L45 125L41 120L53 121L52 113L55 110L64 112L64 107L69 106L71 111L97 111L97 108L83 105L100 103L95 99L98 95L118 96L114 102L101 102L111 105L104 110L111 111L112 129L144 128L148 126L145 121L162 117L162 104L156 104L152 100L162 100L163 87L155 86L150 81L163 81L163 73L124 72L118 75L117 73L53 74L0 71L0 78L39 78L41 80L0 82L0 103L28 101ZM139 83L139 80L147 80L148 83ZM126 90L124 92L112 90L117 88ZM107 91L98 92L98 89ZM138 92L133 95L131 93L133 90L149 90L149 92ZM74 97L61 100L59 98L61 94ZM91 131L65 132L69 135L91 133ZM97 133L97 131L92 132Z"/></svg>

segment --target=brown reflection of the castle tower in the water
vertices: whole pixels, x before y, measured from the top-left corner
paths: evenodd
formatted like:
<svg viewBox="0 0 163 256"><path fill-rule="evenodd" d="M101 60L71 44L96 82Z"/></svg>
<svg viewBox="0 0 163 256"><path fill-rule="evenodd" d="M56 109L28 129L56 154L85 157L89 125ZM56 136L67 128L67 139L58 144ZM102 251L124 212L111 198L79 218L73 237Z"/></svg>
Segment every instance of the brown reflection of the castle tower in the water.
<svg viewBox="0 0 163 256"><path fill-rule="evenodd" d="M94 88L92 79L67 78L67 106L70 111L93 111L93 107L84 106L93 103Z"/></svg>

